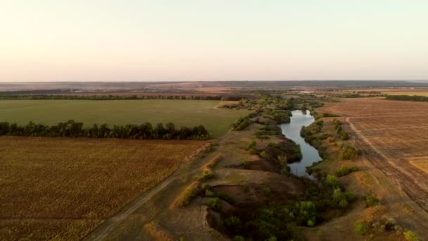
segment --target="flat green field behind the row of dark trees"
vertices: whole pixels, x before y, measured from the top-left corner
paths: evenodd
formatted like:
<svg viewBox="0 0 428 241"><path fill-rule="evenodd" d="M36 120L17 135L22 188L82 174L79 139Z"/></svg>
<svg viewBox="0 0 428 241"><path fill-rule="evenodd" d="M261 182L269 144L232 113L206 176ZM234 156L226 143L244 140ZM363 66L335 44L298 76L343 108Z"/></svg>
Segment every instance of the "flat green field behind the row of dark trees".
<svg viewBox="0 0 428 241"><path fill-rule="evenodd" d="M27 124L29 121L53 125L73 119L85 125L175 123L193 127L204 125L213 136L224 135L246 110L218 109L220 101L198 100L4 100L0 101L0 121Z"/></svg>

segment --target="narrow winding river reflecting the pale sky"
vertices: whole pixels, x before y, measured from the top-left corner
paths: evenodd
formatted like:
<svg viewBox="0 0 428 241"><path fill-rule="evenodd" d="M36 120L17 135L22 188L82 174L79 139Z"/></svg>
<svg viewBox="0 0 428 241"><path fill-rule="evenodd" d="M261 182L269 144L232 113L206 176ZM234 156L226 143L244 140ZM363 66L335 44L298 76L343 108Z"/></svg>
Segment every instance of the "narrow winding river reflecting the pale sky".
<svg viewBox="0 0 428 241"><path fill-rule="evenodd" d="M306 111L306 113L303 113L303 111L291 111L291 113L293 116L290 118L290 123L279 125L282 134L299 144L302 152L301 161L289 164L290 171L294 175L311 178L306 173L306 167L311 166L314 162L321 161L322 158L318 154L317 149L308 144L308 142L305 142L303 137L300 136L300 130L302 126L308 126L313 123L315 118L310 115L309 111Z"/></svg>

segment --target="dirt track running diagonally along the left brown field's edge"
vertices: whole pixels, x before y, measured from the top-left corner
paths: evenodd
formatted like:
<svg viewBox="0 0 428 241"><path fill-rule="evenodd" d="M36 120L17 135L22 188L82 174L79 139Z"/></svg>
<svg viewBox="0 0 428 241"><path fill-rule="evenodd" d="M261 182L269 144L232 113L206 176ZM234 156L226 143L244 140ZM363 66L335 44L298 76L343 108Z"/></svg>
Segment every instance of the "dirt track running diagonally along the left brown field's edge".
<svg viewBox="0 0 428 241"><path fill-rule="evenodd" d="M143 208L144 205L147 205L147 210L149 210L149 213L145 214L147 218L144 219L146 219L146 223L149 223L150 219L153 218L153 216L156 216L156 213L160 211L159 209L150 206L151 202L149 201L151 201L151 199L156 197L156 195L160 194L161 192L168 192L167 187L176 180L180 180L181 178L185 178L187 176L198 173L200 171L201 166L206 163L206 160L209 160L212 156L215 155L215 153L217 152L210 154L208 158L204 159L205 161L200 163L195 163L195 160L191 160L188 163L182 163L179 169L177 169L175 173L172 173L170 177L163 180L161 183L153 187L148 192L144 192L144 194L141 194L141 196L137 197L137 199L134 199L134 201L130 204L127 204L121 211L113 215L111 218L108 218L106 221L103 221L101 225L99 225L95 230L93 230L86 237L84 237L83 240L108 240L109 237L113 236L113 230L119 228L120 224L125 221L125 219L132 218L134 213L138 211L138 209Z"/></svg>

